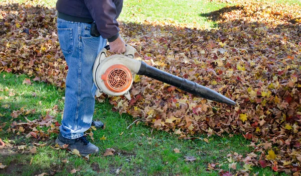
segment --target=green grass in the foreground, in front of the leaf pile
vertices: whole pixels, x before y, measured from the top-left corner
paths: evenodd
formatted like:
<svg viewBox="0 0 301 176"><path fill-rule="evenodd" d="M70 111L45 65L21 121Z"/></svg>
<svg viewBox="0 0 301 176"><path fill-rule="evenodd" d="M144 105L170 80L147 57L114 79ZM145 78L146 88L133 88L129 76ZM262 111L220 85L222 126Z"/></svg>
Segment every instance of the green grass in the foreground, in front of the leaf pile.
<svg viewBox="0 0 301 176"><path fill-rule="evenodd" d="M8 126L14 120L25 122L25 117L38 119L41 114L45 115L46 111L50 111L50 114L60 121L64 91L43 82L32 81L32 85L22 84L23 80L28 78L25 75L17 77L15 74L2 72L0 77L0 90L4 90L0 91L0 113L4 115L0 121L8 123L0 132L0 136L8 146L30 147L37 141L32 138L27 139L26 134L8 133L6 131ZM9 92L15 95L9 96ZM36 93L36 96L33 96L33 93ZM10 108L4 108L6 105ZM52 110L55 105L58 105L57 112ZM10 114L22 107L35 109L36 113L12 119ZM201 139L184 140L178 139L175 134L153 130L142 123L126 129L133 121L131 116L119 115L111 111L111 108L108 102L96 103L94 120L101 120L106 124L104 130L93 131L93 143L100 149L98 156L92 155L89 160L85 160L65 150L55 150L51 146L55 145L54 140L57 135L52 134L50 139L40 141L48 144L37 147L36 154L14 153L0 156L1 162L8 165L6 170L0 170L0 175L35 175L43 172L66 175L74 168L79 169L78 175L114 175L117 169L122 175L217 175L218 171L207 170L208 163L219 163L222 164L219 168L229 170L227 154L237 152L245 157L245 154L251 151L251 147L248 146L251 141L241 135L233 137L197 135L195 137ZM44 131L47 131L47 128ZM103 135L106 140L100 140ZM209 143L202 140L206 137ZM106 148L113 148L116 151L115 155L104 157ZM175 148L180 149L181 152L175 153ZM185 156L194 156L197 160L186 162ZM237 169L243 169L242 165L237 164ZM270 168L253 167L252 171L259 172L259 175L278 175Z"/></svg>

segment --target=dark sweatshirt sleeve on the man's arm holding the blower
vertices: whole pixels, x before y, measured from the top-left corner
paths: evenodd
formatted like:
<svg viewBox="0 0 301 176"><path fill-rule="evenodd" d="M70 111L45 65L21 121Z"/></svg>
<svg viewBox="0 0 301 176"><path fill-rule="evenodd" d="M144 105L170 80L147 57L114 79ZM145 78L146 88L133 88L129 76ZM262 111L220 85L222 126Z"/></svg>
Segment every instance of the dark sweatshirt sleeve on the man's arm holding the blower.
<svg viewBox="0 0 301 176"><path fill-rule="evenodd" d="M122 0L84 0L84 2L100 35L109 42L116 40L120 31L116 19L121 13Z"/></svg>

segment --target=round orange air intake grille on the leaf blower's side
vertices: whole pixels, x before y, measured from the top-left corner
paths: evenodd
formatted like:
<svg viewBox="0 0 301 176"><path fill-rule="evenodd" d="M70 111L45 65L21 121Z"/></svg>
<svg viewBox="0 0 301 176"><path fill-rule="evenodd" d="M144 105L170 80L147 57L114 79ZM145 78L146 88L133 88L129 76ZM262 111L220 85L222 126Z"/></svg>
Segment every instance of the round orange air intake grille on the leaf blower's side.
<svg viewBox="0 0 301 176"><path fill-rule="evenodd" d="M131 71L124 65L116 64L110 66L101 79L104 81L108 90L114 93L120 93L128 89L131 85Z"/></svg>

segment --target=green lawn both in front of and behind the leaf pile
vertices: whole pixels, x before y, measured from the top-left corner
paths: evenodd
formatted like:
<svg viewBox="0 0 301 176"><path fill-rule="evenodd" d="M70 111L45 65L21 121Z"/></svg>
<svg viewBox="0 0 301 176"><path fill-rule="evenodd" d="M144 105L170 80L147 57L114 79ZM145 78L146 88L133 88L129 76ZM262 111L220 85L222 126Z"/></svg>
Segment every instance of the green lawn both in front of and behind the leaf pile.
<svg viewBox="0 0 301 176"><path fill-rule="evenodd" d="M32 3L55 7L55 1ZM218 24L210 20L208 14L236 3L125 0L119 21L125 25L143 25L144 22L157 24L159 21L210 30L218 28ZM301 4L292 0L279 0L276 3ZM126 32L122 32L122 35L137 32L136 29L124 30ZM100 153L89 158L79 157L59 149L54 142L64 108L64 88L34 81L35 76L30 75L4 70L0 72L0 139L6 145L0 149L0 175L67 175L73 172L77 175L218 175L227 171L236 173L237 170L255 175L286 175L272 171L270 167L261 168L240 162L253 150L249 146L252 141L243 135L203 133L180 139L173 132L157 130L140 121L132 124L135 119L112 111L107 99L97 100L94 114L94 120L103 121L105 129L91 128L87 131L89 140L99 147ZM41 124L47 117L53 120L51 126L22 124L29 121ZM39 134L37 139L28 135L33 128ZM114 150L113 155L104 156L108 148ZM260 155L260 152L256 154Z"/></svg>

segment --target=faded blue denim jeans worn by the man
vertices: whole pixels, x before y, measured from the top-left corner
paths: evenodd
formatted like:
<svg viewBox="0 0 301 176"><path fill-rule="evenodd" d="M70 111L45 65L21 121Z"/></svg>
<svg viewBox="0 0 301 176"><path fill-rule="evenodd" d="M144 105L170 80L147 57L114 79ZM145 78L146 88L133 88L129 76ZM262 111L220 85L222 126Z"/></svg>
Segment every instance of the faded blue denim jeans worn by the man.
<svg viewBox="0 0 301 176"><path fill-rule="evenodd" d="M60 131L63 137L76 139L84 135L92 122L96 86L92 69L106 39L90 35L91 24L57 19L58 37L65 56L65 107Z"/></svg>

